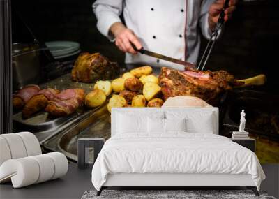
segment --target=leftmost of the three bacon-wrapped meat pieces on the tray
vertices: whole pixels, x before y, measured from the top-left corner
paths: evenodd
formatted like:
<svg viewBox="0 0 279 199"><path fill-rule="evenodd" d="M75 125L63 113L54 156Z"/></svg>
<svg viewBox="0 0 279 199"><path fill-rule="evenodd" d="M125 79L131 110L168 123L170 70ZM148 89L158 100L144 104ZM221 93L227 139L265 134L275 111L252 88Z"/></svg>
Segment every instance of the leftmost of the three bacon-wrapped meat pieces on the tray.
<svg viewBox="0 0 279 199"><path fill-rule="evenodd" d="M15 110L22 109L32 96L38 94L38 91L40 91L40 87L33 84L27 85L20 89L20 91L17 91L17 93L13 95L13 108Z"/></svg>

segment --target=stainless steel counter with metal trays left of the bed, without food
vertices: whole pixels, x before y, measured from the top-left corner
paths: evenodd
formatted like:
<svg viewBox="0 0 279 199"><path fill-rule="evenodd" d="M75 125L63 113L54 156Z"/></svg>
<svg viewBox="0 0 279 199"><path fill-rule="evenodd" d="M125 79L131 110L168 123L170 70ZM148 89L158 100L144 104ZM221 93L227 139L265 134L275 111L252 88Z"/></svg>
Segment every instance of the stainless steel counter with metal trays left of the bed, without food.
<svg viewBox="0 0 279 199"><path fill-rule="evenodd" d="M40 88L80 88L88 93L93 90L93 85L73 82L70 73L67 73L40 84ZM52 118L47 112L39 112L29 119L22 119L21 112L15 112L13 131L30 131L36 135L44 149L63 152L70 159L76 160L77 138L110 137L110 113L106 104L93 110L82 107L73 115L59 118Z"/></svg>

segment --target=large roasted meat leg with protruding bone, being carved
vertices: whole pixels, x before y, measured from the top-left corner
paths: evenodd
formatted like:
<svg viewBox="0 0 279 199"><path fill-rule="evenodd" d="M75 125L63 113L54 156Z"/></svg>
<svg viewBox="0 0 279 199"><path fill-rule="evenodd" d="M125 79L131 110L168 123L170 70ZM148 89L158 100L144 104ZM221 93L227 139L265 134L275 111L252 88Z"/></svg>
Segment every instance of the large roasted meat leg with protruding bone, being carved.
<svg viewBox="0 0 279 199"><path fill-rule="evenodd" d="M264 84L265 75L258 75L247 80L236 80L227 71L198 71L186 68L186 71L177 71L163 67L159 82L165 100L173 96L196 96L204 101L215 104L224 91L233 87L242 87L252 84Z"/></svg>

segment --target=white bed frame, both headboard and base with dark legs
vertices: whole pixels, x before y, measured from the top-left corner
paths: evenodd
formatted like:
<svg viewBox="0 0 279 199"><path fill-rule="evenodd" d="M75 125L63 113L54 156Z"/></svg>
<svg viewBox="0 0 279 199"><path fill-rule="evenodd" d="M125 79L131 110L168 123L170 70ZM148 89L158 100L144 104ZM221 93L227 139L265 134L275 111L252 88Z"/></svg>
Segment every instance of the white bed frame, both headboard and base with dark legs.
<svg viewBox="0 0 279 199"><path fill-rule="evenodd" d="M113 108L112 111L112 135L116 132L117 112L126 112L131 108ZM200 111L201 108L133 108L133 112L145 112L146 115L154 110L187 110ZM130 110L129 110L130 111ZM214 112L216 117L216 133L218 135L218 108L202 108L202 111ZM107 181L103 184L97 196L100 196L103 189L108 187L160 187L163 189L185 188L185 187L246 187L252 189L256 196L259 196L257 187L252 181L251 175L232 174L177 174L177 173L118 173L107 176Z"/></svg>

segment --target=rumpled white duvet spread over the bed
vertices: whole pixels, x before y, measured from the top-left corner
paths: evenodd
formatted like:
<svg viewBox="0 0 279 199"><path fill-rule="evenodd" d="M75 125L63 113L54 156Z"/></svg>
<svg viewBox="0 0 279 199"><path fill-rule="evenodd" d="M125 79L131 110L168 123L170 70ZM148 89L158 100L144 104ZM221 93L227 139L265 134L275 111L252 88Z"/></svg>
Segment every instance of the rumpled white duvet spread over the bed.
<svg viewBox="0 0 279 199"><path fill-rule="evenodd" d="M250 174L259 189L264 172L255 153L208 133L114 135L105 142L92 170L97 190L115 173Z"/></svg>

